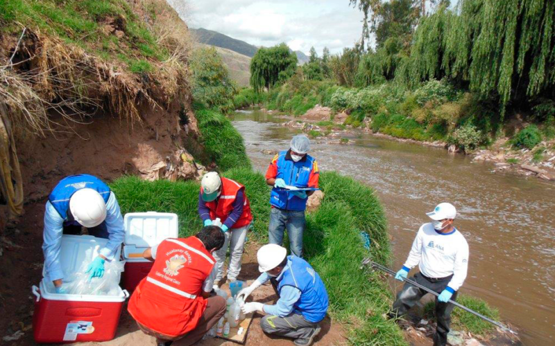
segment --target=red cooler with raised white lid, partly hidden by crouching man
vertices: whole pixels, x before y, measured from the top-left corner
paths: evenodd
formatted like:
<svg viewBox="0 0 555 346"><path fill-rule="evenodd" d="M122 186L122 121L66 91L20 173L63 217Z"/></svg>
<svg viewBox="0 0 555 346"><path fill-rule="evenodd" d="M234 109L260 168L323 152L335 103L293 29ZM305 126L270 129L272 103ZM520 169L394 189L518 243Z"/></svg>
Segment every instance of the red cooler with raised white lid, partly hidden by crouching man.
<svg viewBox="0 0 555 346"><path fill-rule="evenodd" d="M151 271L153 262L145 260L146 248L167 238L178 237L178 216L169 212L130 212L123 218L126 239L123 241L123 287L133 292L137 284Z"/></svg>

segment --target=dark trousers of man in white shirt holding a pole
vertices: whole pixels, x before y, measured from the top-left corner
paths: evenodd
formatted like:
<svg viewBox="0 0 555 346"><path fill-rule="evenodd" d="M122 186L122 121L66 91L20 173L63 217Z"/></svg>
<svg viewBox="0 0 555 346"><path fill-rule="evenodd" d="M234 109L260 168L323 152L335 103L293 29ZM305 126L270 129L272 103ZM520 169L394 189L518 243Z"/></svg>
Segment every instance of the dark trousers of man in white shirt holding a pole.
<svg viewBox="0 0 555 346"><path fill-rule="evenodd" d="M418 284L431 289L434 292L441 293L447 284L451 281L453 275L442 277L439 279L432 279L425 277L421 273L416 273L411 280L416 281ZM423 289L419 289L412 284L406 282L403 289L398 293L397 299L393 303L393 308L389 313L390 318L395 318L397 316L403 316L411 307L420 300L427 292ZM451 300L456 299L456 293L453 293ZM455 306L453 304L439 302L436 297L436 319L438 321L438 327L436 333L434 334L434 346L445 346L447 345L447 333L450 331L451 325L451 311Z"/></svg>

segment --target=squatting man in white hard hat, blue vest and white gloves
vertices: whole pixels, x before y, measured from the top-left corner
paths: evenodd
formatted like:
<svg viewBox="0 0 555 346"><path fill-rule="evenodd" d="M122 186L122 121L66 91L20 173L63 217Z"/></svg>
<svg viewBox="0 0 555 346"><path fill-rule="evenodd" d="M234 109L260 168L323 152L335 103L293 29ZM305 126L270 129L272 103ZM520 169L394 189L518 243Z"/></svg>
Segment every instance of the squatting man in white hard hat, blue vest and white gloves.
<svg viewBox="0 0 555 346"><path fill-rule="evenodd" d="M327 291L320 275L302 258L287 256L287 249L277 244L262 246L257 253L262 273L253 284L237 295L246 300L259 286L271 280L280 299L275 305L244 303L244 313L260 311L266 316L260 326L266 334L294 338L295 345L311 345L320 333L318 325L327 312Z"/></svg>

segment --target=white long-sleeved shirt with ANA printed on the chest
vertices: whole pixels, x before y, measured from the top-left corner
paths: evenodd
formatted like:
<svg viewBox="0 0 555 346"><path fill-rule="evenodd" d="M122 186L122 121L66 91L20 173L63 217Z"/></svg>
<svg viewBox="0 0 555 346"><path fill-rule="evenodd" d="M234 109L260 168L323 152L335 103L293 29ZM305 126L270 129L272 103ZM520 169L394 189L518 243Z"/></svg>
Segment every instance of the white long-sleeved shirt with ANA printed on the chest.
<svg viewBox="0 0 555 346"><path fill-rule="evenodd" d="M404 263L409 271L418 264L427 277L447 277L453 274L447 288L458 291L468 270L468 243L456 228L451 233L438 233L432 224L420 226Z"/></svg>

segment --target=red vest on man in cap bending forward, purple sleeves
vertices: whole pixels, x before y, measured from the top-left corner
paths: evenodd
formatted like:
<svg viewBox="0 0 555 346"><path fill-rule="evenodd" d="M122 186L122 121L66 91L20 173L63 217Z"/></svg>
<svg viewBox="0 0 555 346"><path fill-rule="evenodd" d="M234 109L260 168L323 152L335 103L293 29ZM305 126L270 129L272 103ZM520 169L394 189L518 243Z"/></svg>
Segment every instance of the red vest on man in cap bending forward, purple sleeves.
<svg viewBox="0 0 555 346"><path fill-rule="evenodd" d="M203 188L200 188L202 192ZM247 195L245 193L244 185L237 183L237 181L232 181L231 179L222 178L221 179L221 194L212 202L207 202L206 206L210 209L210 219L214 220L219 217L221 223L225 222L230 213L233 211L233 202L237 198L237 192L243 190L243 196L245 197L245 202L243 204L243 214L239 217L239 220L235 221L233 226L230 228L240 228L250 224L253 221L253 215L250 213L250 202L248 201ZM217 203L216 203L217 201Z"/></svg>

